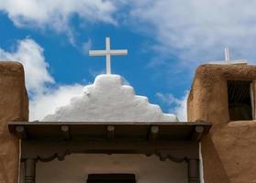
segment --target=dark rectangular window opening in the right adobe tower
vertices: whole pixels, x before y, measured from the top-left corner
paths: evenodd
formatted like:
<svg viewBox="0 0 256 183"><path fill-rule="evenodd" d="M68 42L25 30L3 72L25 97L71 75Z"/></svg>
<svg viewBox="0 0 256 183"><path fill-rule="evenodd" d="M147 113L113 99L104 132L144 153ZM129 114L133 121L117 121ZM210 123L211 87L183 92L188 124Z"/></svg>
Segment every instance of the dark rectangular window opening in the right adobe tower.
<svg viewBox="0 0 256 183"><path fill-rule="evenodd" d="M230 121L252 120L252 81L228 81L228 111Z"/></svg>

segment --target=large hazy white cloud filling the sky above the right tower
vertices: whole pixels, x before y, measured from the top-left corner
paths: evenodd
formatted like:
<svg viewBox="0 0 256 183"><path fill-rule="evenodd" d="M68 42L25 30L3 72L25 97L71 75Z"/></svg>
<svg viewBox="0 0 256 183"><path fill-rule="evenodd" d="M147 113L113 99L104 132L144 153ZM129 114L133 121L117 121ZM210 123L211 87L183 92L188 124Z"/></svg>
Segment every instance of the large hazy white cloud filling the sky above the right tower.
<svg viewBox="0 0 256 183"><path fill-rule="evenodd" d="M251 60L256 57L255 7L255 0L142 0L133 3L129 23L184 65L224 59L225 46L233 50L233 59Z"/></svg>

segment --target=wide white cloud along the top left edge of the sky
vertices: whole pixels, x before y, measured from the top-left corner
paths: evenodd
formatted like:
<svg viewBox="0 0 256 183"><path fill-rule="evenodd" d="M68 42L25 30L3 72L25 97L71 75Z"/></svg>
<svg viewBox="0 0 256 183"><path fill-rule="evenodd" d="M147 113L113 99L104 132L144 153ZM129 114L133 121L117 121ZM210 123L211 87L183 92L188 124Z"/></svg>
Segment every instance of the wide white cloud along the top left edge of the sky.
<svg viewBox="0 0 256 183"><path fill-rule="evenodd" d="M115 5L104 0L0 0L0 10L17 27L50 27L58 32L70 29L72 16L88 22L117 24L112 17Z"/></svg>

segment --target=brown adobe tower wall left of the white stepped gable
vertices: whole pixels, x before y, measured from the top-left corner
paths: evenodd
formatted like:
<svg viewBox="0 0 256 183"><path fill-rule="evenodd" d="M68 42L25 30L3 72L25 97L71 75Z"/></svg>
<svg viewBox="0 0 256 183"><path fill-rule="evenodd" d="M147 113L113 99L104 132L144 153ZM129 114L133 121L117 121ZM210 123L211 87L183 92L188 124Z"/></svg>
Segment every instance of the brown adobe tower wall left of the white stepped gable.
<svg viewBox="0 0 256 183"><path fill-rule="evenodd" d="M18 140L7 123L28 121L28 95L20 63L0 61L0 182L17 183Z"/></svg>

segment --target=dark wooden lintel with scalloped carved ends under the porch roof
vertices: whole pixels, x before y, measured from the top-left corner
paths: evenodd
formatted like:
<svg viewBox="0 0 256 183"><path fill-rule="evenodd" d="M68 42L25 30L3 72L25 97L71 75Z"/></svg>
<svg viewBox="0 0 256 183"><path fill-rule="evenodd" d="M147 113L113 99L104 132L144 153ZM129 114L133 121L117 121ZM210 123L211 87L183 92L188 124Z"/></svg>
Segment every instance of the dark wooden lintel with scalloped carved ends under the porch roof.
<svg viewBox="0 0 256 183"><path fill-rule="evenodd" d="M165 157L176 162L186 158L198 158L198 143L191 141L123 141L123 140L69 140L23 141L22 159L38 157L41 161L70 154L144 154Z"/></svg>

